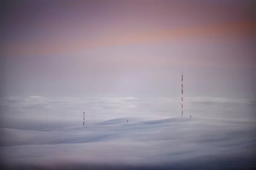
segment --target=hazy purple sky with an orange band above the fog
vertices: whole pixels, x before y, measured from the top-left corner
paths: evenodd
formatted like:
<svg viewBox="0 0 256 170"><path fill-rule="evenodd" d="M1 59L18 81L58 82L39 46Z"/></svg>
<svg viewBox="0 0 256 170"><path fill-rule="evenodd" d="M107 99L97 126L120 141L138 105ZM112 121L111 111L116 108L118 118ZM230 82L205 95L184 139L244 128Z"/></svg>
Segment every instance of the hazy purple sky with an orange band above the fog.
<svg viewBox="0 0 256 170"><path fill-rule="evenodd" d="M4 96L255 99L253 1L9 1Z"/></svg>

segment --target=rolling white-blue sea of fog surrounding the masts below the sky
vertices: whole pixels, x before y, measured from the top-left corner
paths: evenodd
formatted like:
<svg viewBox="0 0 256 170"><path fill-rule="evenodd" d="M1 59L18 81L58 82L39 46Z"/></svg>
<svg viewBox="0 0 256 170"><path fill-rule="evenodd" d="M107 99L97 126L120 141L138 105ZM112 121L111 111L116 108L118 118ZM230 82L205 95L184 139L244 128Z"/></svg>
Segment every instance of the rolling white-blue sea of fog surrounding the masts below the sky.
<svg viewBox="0 0 256 170"><path fill-rule="evenodd" d="M5 97L0 106L5 168L256 168L255 101L186 98L183 117L180 98Z"/></svg>

